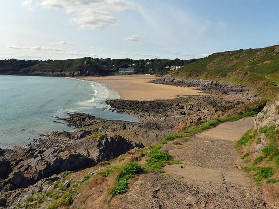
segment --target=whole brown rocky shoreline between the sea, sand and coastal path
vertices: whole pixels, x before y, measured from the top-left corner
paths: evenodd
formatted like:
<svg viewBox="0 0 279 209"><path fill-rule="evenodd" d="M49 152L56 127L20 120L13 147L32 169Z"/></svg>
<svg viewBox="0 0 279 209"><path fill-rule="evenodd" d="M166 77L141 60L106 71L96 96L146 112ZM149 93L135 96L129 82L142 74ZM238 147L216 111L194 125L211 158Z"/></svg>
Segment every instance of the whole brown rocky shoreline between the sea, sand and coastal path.
<svg viewBox="0 0 279 209"><path fill-rule="evenodd" d="M76 132L52 132L27 148L0 150L0 206L11 202L5 194L35 185L64 171L77 171L108 161L135 147L150 146L184 126L209 121L259 100L242 85L187 79L162 78L152 81L166 85L196 87L208 95L179 97L174 100L108 100L111 111L133 115L139 122L71 114L63 118ZM44 190L44 188L41 188Z"/></svg>

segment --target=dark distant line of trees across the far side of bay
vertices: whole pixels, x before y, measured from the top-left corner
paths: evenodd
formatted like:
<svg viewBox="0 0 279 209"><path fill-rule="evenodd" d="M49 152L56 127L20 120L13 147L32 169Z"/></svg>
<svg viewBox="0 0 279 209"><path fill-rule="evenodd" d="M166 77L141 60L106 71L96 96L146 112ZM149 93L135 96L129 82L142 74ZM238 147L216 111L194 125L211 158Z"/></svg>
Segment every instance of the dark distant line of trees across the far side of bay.
<svg viewBox="0 0 279 209"><path fill-rule="evenodd" d="M0 74L36 74L59 76L93 76L118 72L119 68L133 68L136 74L166 74L170 66L184 66L198 59L99 59L78 58L68 60L0 60Z"/></svg>

